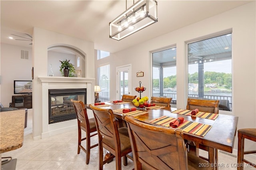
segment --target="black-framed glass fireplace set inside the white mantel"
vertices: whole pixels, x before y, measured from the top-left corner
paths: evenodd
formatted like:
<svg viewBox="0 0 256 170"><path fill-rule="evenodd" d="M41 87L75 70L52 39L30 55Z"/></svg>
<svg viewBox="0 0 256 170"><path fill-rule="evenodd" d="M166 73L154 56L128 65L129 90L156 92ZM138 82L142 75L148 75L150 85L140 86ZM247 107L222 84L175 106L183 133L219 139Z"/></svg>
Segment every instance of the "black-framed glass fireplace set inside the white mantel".
<svg viewBox="0 0 256 170"><path fill-rule="evenodd" d="M86 104L86 88L49 89L49 124L76 119L76 111L70 101L81 100Z"/></svg>

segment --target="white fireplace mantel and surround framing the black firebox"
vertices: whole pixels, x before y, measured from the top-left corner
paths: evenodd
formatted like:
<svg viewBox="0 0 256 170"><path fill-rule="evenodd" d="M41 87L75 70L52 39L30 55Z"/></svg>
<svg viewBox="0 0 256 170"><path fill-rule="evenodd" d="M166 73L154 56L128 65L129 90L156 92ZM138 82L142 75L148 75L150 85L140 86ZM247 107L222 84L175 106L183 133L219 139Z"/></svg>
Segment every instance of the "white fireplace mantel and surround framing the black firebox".
<svg viewBox="0 0 256 170"><path fill-rule="evenodd" d="M94 78L38 76L42 82L42 139L64 133L77 128L76 119L49 124L48 90L86 88L86 102L92 103L94 98ZM88 115L89 116L89 115Z"/></svg>

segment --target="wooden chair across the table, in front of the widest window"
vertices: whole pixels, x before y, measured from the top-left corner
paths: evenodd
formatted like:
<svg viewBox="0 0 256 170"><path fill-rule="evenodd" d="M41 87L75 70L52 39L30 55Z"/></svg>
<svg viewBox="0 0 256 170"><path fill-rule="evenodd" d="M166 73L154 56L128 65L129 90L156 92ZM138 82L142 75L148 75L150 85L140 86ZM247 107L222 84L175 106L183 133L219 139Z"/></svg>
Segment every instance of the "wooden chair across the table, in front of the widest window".
<svg viewBox="0 0 256 170"><path fill-rule="evenodd" d="M201 99L188 98L186 109L188 110L198 109L199 111L218 114L219 103L220 103L220 100L201 100ZM208 147L201 144L196 146L196 144L192 143L191 141L188 141L188 147L189 147L189 152L196 152L197 154L199 154L198 149L208 151ZM216 163L218 163L218 150L215 149L214 152L215 152ZM200 156L200 158L203 158L204 160L208 161L208 158L205 158L203 156Z"/></svg>

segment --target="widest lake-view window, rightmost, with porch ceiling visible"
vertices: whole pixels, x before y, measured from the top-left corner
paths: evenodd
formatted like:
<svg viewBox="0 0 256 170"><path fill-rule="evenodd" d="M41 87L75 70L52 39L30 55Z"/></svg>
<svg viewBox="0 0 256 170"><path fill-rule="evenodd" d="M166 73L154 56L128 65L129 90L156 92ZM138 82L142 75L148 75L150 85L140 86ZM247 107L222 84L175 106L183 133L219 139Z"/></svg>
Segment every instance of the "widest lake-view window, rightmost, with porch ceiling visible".
<svg viewBox="0 0 256 170"><path fill-rule="evenodd" d="M188 44L188 97L232 109L232 33Z"/></svg>

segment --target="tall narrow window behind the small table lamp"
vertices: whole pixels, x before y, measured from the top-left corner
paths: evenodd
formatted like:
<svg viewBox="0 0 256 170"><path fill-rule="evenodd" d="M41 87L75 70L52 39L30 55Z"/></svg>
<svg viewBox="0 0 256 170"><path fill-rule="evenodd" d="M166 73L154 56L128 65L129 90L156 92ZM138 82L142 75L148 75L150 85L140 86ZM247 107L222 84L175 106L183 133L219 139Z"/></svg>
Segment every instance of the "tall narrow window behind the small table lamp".
<svg viewBox="0 0 256 170"><path fill-rule="evenodd" d="M110 65L100 66L98 68L98 85L100 86L99 100L107 102L110 100L109 84L110 84Z"/></svg>

